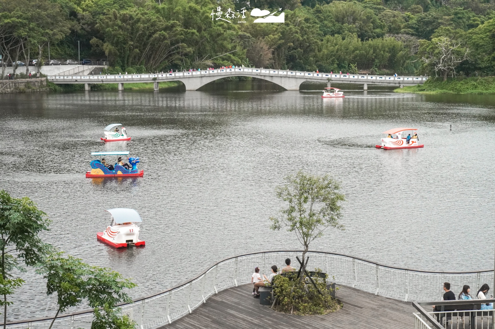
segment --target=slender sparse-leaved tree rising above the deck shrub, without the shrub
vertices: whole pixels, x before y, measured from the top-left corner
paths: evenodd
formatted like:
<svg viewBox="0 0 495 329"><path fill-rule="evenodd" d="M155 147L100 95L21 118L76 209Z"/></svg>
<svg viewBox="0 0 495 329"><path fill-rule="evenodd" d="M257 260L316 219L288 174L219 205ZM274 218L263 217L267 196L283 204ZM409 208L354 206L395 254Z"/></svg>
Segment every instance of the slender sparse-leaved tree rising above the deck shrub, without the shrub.
<svg viewBox="0 0 495 329"><path fill-rule="evenodd" d="M339 192L340 183L329 175L314 176L299 170L295 176L287 176L285 181L285 185L276 189L277 198L289 205L280 210L279 217L270 217L270 228L280 230L285 226L287 231L296 233L297 240L304 247L304 263L309 244L322 237L325 229L344 230L339 219L342 218L340 203L346 198ZM304 273L304 268L301 271Z"/></svg>

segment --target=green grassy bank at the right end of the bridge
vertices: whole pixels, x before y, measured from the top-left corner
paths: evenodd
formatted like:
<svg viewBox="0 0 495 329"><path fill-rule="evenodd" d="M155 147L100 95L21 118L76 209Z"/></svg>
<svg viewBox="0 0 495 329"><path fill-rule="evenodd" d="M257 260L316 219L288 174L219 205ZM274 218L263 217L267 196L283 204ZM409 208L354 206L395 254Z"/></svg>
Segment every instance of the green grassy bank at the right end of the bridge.
<svg viewBox="0 0 495 329"><path fill-rule="evenodd" d="M495 94L495 77L430 79L423 84L397 88L395 92L418 92L424 94Z"/></svg>

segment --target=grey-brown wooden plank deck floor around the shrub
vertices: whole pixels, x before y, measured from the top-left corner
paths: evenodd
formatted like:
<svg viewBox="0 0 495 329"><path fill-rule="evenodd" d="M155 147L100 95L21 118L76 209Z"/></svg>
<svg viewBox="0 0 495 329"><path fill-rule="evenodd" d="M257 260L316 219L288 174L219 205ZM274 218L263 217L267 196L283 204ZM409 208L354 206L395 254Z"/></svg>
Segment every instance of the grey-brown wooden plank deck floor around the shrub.
<svg viewBox="0 0 495 329"><path fill-rule="evenodd" d="M251 295L252 285L230 288L211 296L206 303L161 329L413 329L414 308L411 303L342 286L337 297L344 308L327 315L295 316L272 311L259 305Z"/></svg>

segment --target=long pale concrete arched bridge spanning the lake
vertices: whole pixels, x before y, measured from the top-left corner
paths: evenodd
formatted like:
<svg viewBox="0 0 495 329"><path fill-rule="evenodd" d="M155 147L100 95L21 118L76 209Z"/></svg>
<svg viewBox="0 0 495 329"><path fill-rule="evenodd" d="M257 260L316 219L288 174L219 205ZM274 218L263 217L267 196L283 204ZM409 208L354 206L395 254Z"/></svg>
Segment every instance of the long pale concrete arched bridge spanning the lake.
<svg viewBox="0 0 495 329"><path fill-rule="evenodd" d="M422 84L428 77L394 77L394 76L370 76L347 75L315 72L300 72L291 70L269 70L256 68L232 68L203 70L194 72L174 72L159 74L135 74L135 75L100 75L100 76L49 76L53 83L84 83L85 89L90 90L90 84L94 83L118 83L119 90L124 89L124 83L154 82L154 89L158 90L158 82L180 81L186 85L186 90L197 90L206 83L226 77L252 77L263 79L280 85L287 90L299 90L302 82L345 82L363 84L364 90L368 84L381 85L413 85Z"/></svg>

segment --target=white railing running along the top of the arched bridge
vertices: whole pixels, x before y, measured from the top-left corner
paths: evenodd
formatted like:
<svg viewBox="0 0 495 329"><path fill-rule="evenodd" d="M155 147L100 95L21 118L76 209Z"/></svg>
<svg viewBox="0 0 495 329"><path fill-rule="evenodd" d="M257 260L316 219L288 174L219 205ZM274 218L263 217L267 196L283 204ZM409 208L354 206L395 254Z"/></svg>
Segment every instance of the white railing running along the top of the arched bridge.
<svg viewBox="0 0 495 329"><path fill-rule="evenodd" d="M69 70L70 71L70 70ZM129 74L129 75L96 75L96 76L71 76L71 74L62 72L56 76L49 76L48 79L53 82L60 82L60 79L74 79L85 80L91 82L90 79L99 80L105 82L125 82L125 81L149 81L166 79L176 80L177 78L200 78L204 75L247 75L247 76L282 76L286 78L304 78L306 80L319 80L327 81L331 79L333 81L340 82L360 82L360 83L423 83L428 80L428 77L414 77L414 76L377 76L377 75L358 75L358 74L335 74L335 73L317 73L317 72L301 72L291 70L269 70L269 69L256 69L256 68L231 68L231 69L215 69L215 70L201 70L192 72L172 72L172 73L157 73L157 74ZM73 73L75 74L75 72ZM73 75L72 74L72 75ZM109 81L109 79L111 81ZM65 80L64 82L68 82ZM98 82L98 83L101 83ZM96 83L96 82L94 82Z"/></svg>

